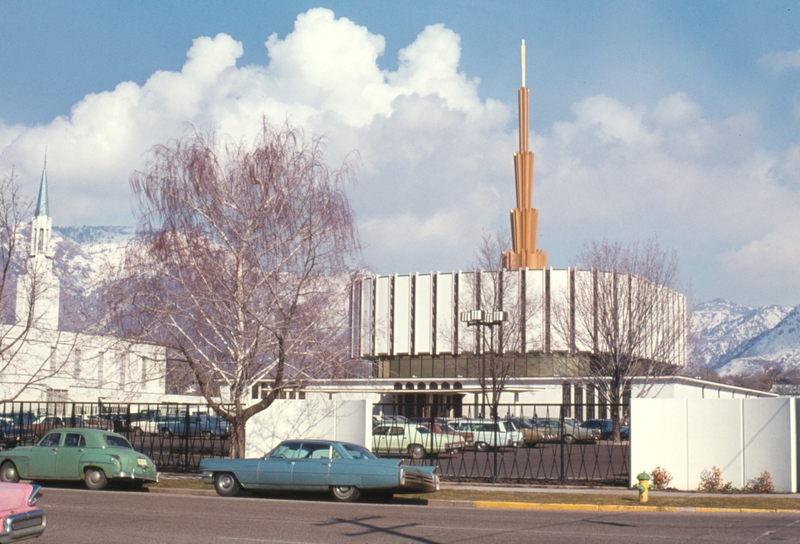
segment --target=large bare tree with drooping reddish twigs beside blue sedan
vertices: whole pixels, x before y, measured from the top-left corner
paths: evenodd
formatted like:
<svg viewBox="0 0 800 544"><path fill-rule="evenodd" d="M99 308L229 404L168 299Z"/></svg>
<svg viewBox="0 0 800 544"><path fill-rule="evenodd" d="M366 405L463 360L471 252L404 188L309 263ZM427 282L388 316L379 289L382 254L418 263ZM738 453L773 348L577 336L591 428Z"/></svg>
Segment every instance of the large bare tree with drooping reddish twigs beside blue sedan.
<svg viewBox="0 0 800 544"><path fill-rule="evenodd" d="M131 176L139 234L106 288L111 325L191 370L231 423L233 457L250 417L346 357L352 169L322 155L264 120L252 147L195 132Z"/></svg>

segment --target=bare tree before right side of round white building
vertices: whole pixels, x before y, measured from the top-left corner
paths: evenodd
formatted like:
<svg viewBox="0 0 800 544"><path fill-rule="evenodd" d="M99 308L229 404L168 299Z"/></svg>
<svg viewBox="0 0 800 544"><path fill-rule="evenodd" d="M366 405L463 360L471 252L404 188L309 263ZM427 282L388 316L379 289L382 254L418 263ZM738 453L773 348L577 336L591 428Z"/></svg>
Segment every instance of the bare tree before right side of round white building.
<svg viewBox="0 0 800 544"><path fill-rule="evenodd" d="M562 373L612 407L614 439L635 382L645 396L685 364L686 306L678 259L657 241L592 242L578 255L574 292L553 303L552 326L568 339Z"/></svg>

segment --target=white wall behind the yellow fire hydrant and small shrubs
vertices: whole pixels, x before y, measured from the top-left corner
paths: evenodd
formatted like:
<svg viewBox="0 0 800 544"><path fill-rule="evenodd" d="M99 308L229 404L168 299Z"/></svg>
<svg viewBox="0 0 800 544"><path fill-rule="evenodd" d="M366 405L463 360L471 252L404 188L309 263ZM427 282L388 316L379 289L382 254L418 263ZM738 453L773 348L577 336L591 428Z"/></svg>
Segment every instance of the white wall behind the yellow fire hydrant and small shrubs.
<svg viewBox="0 0 800 544"><path fill-rule="evenodd" d="M769 471L775 490L798 489L798 421L793 398L631 399L631 485L656 466L670 486L692 490L712 466L742 488Z"/></svg>

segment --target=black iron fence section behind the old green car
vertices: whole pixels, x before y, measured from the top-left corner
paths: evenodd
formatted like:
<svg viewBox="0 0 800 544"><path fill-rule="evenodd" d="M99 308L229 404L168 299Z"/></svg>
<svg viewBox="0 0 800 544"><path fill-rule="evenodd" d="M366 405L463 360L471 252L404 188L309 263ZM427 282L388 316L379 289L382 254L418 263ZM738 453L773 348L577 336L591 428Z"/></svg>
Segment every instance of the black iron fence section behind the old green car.
<svg viewBox="0 0 800 544"><path fill-rule="evenodd" d="M120 433L159 471L194 471L201 459L230 452L228 422L206 404L0 403L0 448L33 445L64 427Z"/></svg>

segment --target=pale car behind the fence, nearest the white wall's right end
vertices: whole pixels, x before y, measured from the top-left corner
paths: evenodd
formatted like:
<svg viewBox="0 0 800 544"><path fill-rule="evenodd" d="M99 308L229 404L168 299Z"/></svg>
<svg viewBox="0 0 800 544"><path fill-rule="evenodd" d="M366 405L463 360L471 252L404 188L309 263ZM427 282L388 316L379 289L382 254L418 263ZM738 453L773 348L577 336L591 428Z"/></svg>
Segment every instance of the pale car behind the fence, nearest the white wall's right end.
<svg viewBox="0 0 800 544"><path fill-rule="evenodd" d="M455 433L432 432L416 423L378 425L372 429L372 451L378 455L408 454L422 459L427 454L454 453L464 448L464 439Z"/></svg>

